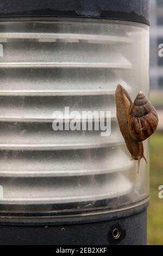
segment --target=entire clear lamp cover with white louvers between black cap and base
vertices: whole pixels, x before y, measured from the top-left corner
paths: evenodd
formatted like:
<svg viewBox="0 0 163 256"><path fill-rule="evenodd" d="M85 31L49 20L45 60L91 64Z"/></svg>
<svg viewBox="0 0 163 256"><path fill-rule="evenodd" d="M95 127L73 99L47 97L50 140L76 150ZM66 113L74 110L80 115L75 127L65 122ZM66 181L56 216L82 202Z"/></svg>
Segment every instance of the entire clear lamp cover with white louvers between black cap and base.
<svg viewBox="0 0 163 256"><path fill-rule="evenodd" d="M137 174L130 161L115 89L122 84L133 100L139 90L148 94L148 27L89 19L2 21L0 44L0 214L90 214L146 199L148 166L142 160ZM53 112L65 107L111 111L111 135L54 131ZM63 120L70 121L66 113Z"/></svg>

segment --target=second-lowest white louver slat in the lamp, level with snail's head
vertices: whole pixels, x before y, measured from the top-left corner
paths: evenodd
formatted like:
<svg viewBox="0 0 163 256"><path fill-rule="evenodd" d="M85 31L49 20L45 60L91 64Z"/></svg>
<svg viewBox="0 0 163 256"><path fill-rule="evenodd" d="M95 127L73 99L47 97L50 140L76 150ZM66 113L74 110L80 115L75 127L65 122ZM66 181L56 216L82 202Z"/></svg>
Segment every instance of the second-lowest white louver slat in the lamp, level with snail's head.
<svg viewBox="0 0 163 256"><path fill-rule="evenodd" d="M2 151L0 161L0 176L12 177L94 175L122 172L133 167L126 152L118 147L68 151Z"/></svg>

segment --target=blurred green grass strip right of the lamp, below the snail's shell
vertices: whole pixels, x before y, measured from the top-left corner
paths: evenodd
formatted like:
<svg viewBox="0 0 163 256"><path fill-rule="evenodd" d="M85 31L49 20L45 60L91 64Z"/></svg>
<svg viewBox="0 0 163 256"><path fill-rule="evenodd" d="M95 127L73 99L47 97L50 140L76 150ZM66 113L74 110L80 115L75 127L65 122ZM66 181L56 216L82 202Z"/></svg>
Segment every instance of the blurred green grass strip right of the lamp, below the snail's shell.
<svg viewBox="0 0 163 256"><path fill-rule="evenodd" d="M158 198L158 187L163 185L163 133L150 139L151 199L148 207L148 245L163 245L163 199Z"/></svg>

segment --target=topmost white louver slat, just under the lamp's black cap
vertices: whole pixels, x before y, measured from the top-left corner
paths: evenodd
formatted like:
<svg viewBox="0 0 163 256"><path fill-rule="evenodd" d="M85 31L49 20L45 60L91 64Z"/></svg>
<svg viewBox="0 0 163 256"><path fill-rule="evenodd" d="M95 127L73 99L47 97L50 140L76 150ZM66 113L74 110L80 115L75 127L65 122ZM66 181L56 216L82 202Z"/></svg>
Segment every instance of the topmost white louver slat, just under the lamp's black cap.
<svg viewBox="0 0 163 256"><path fill-rule="evenodd" d="M1 22L1 39L82 39L98 40L103 44L105 41L131 42L132 38L122 26L112 29L112 24L105 22L48 21L48 22Z"/></svg>

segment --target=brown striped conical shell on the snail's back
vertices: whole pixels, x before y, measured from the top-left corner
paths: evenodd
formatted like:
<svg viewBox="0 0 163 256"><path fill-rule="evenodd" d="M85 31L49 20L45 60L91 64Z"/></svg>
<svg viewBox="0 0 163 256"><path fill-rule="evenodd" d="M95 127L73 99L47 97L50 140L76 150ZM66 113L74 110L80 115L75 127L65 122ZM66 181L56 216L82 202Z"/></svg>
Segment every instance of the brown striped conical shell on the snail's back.
<svg viewBox="0 0 163 256"><path fill-rule="evenodd" d="M158 114L151 102L139 92L134 103L130 107L128 118L128 130L135 141L145 141L158 126Z"/></svg>

